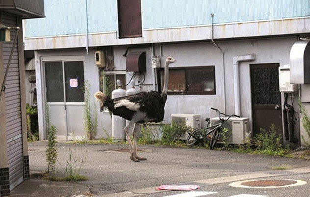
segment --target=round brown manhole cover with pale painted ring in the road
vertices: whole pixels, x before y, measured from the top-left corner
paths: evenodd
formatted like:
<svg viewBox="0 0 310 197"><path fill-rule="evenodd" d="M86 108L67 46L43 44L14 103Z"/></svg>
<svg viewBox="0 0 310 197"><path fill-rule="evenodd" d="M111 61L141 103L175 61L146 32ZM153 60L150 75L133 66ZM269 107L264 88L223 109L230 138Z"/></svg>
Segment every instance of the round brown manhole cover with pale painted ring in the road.
<svg viewBox="0 0 310 197"><path fill-rule="evenodd" d="M291 180L291 179L267 179L267 180L250 180L238 181L229 184L232 187L244 188L277 188L277 187L292 187L306 184L306 181Z"/></svg>

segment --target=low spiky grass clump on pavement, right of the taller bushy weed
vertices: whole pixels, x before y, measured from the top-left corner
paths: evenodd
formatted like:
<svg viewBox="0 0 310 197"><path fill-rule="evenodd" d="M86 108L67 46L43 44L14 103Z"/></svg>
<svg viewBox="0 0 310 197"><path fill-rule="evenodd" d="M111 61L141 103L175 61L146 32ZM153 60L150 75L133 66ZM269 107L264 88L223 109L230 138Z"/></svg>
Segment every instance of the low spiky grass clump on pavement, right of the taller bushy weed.
<svg viewBox="0 0 310 197"><path fill-rule="evenodd" d="M70 151L70 149L69 149ZM80 180L87 180L87 177L80 175L80 171L82 169L82 165L85 163L86 160L86 153L87 150L85 151L85 155L82 158L75 158L72 155L72 151L68 153L69 160L66 160L66 167L64 167L58 160L59 165L61 166L62 169L64 169L66 176L63 177L61 180L65 181L80 181ZM84 160L85 159L85 160ZM80 163L78 164L78 162Z"/></svg>

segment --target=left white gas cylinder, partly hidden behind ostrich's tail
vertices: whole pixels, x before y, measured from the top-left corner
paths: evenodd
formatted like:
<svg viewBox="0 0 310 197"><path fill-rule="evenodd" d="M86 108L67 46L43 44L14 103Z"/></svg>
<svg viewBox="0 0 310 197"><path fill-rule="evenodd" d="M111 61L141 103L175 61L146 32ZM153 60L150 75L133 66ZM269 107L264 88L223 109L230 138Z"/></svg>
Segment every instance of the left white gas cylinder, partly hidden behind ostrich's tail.
<svg viewBox="0 0 310 197"><path fill-rule="evenodd" d="M121 88L122 86L121 80L117 80L116 84L118 88L112 91L112 99L125 96L126 91ZM124 141L126 139L125 132L124 132L124 127L126 126L125 123L126 123L125 119L117 115L112 115L113 141Z"/></svg>

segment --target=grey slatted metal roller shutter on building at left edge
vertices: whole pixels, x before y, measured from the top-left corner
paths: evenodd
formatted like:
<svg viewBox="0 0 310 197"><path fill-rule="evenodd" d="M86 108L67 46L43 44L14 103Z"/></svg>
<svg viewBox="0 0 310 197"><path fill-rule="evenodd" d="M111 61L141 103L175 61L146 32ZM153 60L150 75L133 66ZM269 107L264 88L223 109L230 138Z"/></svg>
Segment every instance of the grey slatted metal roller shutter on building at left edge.
<svg viewBox="0 0 310 197"><path fill-rule="evenodd" d="M7 27L16 27L14 15L1 13L1 23ZM16 31L11 30L11 42L3 42L4 70L10 57ZM10 176L10 190L23 182L23 142L21 121L21 92L19 81L19 61L17 43L5 81L5 110L7 130L8 167Z"/></svg>

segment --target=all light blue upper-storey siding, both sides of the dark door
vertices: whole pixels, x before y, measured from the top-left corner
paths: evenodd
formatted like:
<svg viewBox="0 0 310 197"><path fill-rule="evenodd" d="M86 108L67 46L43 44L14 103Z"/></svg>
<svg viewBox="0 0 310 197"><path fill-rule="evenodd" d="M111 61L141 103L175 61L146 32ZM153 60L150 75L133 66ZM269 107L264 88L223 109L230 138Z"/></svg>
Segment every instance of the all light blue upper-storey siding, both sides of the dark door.
<svg viewBox="0 0 310 197"><path fill-rule="evenodd" d="M26 20L25 37L117 31L117 0L44 0L46 18ZM310 0L142 0L143 29L310 16ZM57 13L57 14L55 14Z"/></svg>

